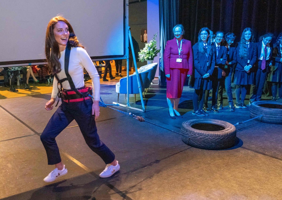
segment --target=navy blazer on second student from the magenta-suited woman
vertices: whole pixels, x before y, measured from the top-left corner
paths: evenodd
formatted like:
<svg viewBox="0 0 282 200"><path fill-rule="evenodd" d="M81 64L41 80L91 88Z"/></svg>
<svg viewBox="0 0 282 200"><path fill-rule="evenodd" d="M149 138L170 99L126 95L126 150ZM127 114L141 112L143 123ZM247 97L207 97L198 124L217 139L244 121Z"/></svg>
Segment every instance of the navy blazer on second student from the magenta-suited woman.
<svg viewBox="0 0 282 200"><path fill-rule="evenodd" d="M222 78L222 69L224 69L224 65L227 60L227 48L225 46L220 46L218 51L218 56L216 56L217 48L215 42L213 42L212 47L215 51L215 66L218 66L213 70L212 76L214 78ZM222 61L220 60L221 58Z"/></svg>

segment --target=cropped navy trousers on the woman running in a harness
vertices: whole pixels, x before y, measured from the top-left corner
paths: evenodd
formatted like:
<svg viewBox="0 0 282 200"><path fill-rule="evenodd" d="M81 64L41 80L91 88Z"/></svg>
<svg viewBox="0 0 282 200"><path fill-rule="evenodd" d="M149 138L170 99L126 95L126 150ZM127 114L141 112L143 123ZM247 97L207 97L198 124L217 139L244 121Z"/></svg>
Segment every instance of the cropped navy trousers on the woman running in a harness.
<svg viewBox="0 0 282 200"><path fill-rule="evenodd" d="M106 164L114 161L113 152L100 140L97 134L95 117L92 116L92 103L92 99L72 103L62 101L40 136L47 153L48 165L61 162L55 138L72 120L77 122L86 144L92 151L98 154Z"/></svg>

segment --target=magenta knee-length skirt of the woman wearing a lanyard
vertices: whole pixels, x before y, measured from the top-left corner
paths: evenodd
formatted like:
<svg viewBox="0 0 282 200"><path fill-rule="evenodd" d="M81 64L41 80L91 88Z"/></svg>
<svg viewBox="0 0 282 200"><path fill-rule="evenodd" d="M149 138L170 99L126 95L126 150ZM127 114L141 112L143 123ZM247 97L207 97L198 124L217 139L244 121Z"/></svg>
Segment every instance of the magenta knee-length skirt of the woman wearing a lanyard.
<svg viewBox="0 0 282 200"><path fill-rule="evenodd" d="M181 97L188 69L171 68L170 78L166 78L166 97L177 99Z"/></svg>

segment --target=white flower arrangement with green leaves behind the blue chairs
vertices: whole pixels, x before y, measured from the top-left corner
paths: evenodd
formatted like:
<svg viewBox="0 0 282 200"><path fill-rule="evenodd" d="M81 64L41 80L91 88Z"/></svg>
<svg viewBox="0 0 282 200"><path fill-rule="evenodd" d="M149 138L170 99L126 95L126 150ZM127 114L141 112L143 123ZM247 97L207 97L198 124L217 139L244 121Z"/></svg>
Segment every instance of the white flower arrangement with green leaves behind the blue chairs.
<svg viewBox="0 0 282 200"><path fill-rule="evenodd" d="M154 60L157 54L160 52L160 49L157 49L157 33L154 35L154 38L150 40L149 43L145 44L144 49L141 49L138 52L139 60L144 62L146 60Z"/></svg>

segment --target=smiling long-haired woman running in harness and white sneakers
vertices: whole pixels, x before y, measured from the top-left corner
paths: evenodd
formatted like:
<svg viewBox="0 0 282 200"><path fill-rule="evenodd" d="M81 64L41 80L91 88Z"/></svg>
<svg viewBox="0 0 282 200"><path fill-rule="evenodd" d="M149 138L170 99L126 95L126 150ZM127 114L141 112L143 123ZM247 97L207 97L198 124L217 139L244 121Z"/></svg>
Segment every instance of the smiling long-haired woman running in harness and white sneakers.
<svg viewBox="0 0 282 200"><path fill-rule="evenodd" d="M49 71L55 76L51 99L45 104L45 109L53 109L57 96L62 98L62 104L52 115L40 136L47 153L48 164L56 166L44 181L52 182L68 172L61 161L55 138L73 120L78 123L85 142L106 164L100 177L112 176L120 169L120 165L115 160L113 152L99 139L95 123L100 115L99 75L88 53L74 35L72 26L64 17L56 16L50 20L46 31L45 53ZM89 94L92 94L91 87L84 85L83 69L92 79L93 101L89 97Z"/></svg>

